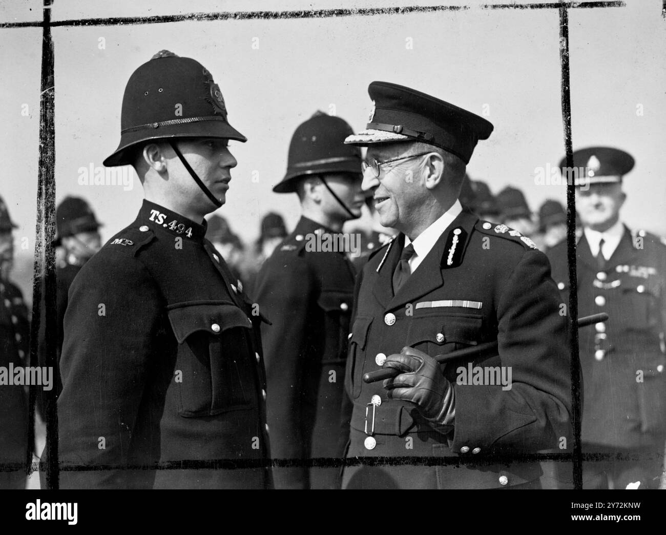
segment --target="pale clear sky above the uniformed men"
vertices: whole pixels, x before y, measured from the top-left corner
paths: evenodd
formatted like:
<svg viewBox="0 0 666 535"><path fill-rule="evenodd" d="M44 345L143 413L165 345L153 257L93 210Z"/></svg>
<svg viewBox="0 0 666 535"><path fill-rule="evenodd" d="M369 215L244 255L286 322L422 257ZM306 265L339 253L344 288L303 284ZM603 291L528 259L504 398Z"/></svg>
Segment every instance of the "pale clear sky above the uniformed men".
<svg viewBox="0 0 666 535"><path fill-rule="evenodd" d="M55 0L52 13L55 20L156 15L180 13L183 4ZM318 9L380 5L314 4ZM666 21L658 0L627 4L569 10L573 147L611 145L631 153L637 163L625 179L623 219L666 235ZM265 3L248 1L190 1L186 12L249 11L253 5L266 9ZM273 9L312 9L313 3L278 5ZM38 19L39 2L0 3L0 21ZM294 129L316 110L328 113L333 107L362 129L373 80L485 113L495 130L476 148L468 173L487 181L495 193L505 185L523 189L536 211L547 198L565 199L561 187L534 182L537 167L555 166L564 155L558 24L556 9L471 7L407 15L55 27L57 201L65 195L88 199L105 224L104 239L133 221L143 198L136 177L129 191L81 186L79 169L101 167L115 150L129 76L155 52L168 49L212 73L232 125L248 137L247 143L231 144L238 167L220 209L245 241L256 237L267 211L282 213L289 228L298 219L295 195L271 191L286 170ZM30 237L33 245L41 29L0 29L0 50L5 111L0 195L21 226L17 240ZM31 257L32 250L17 253Z"/></svg>

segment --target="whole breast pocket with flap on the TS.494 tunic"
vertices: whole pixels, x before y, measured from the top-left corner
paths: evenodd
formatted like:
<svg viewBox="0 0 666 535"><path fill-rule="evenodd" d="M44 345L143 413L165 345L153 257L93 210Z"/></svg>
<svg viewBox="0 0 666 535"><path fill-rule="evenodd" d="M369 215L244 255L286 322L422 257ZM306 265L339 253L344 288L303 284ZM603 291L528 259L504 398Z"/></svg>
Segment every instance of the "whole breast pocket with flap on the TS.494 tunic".
<svg viewBox="0 0 666 535"><path fill-rule="evenodd" d="M234 304L172 306L178 350L174 387L181 416L212 416L254 400L252 322Z"/></svg>

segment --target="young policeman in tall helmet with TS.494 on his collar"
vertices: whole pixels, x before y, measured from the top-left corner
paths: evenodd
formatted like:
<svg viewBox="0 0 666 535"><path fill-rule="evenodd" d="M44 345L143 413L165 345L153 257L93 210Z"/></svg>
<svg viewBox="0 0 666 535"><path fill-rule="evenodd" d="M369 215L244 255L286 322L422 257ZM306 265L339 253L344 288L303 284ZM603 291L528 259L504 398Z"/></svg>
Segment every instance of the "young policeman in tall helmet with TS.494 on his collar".
<svg viewBox="0 0 666 535"><path fill-rule="evenodd" d="M104 163L134 165L145 201L71 287L59 453L79 469L61 488L265 488L261 318L204 239L246 138L212 75L168 51L129 79L121 129Z"/></svg>

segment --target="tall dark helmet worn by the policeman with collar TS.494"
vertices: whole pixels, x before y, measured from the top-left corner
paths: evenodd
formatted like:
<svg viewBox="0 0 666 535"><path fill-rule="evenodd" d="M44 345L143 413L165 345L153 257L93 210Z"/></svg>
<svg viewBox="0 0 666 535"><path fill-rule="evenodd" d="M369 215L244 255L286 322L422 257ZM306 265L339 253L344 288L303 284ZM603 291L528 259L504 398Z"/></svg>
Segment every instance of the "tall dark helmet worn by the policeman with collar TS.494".
<svg viewBox="0 0 666 535"><path fill-rule="evenodd" d="M163 50L131 75L123 96L121 142L104 161L127 165L149 139L219 137L247 141L227 119L220 87L203 65Z"/></svg>

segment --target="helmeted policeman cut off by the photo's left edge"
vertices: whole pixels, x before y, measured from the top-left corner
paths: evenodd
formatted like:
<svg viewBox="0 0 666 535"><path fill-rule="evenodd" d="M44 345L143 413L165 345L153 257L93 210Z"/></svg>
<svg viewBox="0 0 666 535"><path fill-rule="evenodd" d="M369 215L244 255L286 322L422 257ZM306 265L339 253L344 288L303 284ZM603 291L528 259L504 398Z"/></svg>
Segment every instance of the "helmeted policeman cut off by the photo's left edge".
<svg viewBox="0 0 666 535"><path fill-rule="evenodd" d="M16 228L0 197L0 367L5 371L9 366L27 366L29 354L28 310L19 286L9 280ZM28 405L23 386L0 386L0 406L0 464L5 466L0 472L0 489L25 488Z"/></svg>

